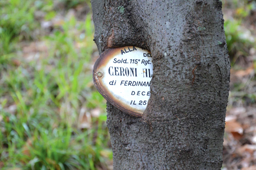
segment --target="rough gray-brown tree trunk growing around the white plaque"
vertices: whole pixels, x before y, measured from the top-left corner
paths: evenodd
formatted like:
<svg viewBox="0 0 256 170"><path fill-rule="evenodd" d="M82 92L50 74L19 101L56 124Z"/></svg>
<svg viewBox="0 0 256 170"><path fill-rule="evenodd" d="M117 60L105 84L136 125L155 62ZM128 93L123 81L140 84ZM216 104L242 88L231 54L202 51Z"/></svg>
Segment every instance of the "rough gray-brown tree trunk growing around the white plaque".
<svg viewBox="0 0 256 170"><path fill-rule="evenodd" d="M100 53L137 46L153 55L143 117L107 104L114 169L220 169L230 69L222 3L91 3Z"/></svg>

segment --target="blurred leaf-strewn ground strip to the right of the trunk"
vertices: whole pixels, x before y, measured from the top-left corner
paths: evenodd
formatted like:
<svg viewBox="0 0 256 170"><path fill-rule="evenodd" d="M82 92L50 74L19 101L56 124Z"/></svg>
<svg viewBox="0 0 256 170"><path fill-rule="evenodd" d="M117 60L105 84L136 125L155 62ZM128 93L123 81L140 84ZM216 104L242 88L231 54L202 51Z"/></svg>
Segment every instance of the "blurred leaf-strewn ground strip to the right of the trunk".
<svg viewBox="0 0 256 170"><path fill-rule="evenodd" d="M249 10L251 4L226 5L223 14L232 68L223 169L253 170L256 169L256 10L255 5L251 6L254 10Z"/></svg>

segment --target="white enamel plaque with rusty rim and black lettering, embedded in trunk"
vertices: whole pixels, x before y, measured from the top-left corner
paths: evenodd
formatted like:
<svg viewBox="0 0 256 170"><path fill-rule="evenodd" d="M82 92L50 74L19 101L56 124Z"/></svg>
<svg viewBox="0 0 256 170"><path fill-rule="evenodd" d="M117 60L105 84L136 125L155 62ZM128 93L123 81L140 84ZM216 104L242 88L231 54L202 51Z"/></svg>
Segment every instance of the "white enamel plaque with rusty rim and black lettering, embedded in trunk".
<svg viewBox="0 0 256 170"><path fill-rule="evenodd" d="M118 109L142 117L150 97L153 74L151 52L129 46L101 53L93 70L100 94Z"/></svg>

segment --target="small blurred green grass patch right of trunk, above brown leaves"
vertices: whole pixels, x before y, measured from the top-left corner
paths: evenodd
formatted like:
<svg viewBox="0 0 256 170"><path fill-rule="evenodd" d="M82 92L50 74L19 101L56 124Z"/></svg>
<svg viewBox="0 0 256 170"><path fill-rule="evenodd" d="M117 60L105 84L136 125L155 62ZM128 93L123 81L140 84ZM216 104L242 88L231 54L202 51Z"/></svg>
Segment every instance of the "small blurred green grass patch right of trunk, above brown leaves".
<svg viewBox="0 0 256 170"><path fill-rule="evenodd" d="M239 57L248 56L250 48L256 48L255 40L250 30L246 28L246 24L243 25L245 20L248 20L246 17L250 14L251 10L255 10L255 5L256 2L250 3L248 0L227 0L223 4L224 7L229 6L229 8L233 8L234 12L233 17L224 22L227 47L232 66Z"/></svg>

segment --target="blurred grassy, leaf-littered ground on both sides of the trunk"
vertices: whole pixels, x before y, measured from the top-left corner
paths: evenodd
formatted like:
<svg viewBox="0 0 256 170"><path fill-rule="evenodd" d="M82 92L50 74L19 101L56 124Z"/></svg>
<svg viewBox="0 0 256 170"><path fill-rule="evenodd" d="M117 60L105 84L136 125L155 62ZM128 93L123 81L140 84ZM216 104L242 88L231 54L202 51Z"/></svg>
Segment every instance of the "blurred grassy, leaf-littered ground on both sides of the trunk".
<svg viewBox="0 0 256 170"><path fill-rule="evenodd" d="M253 170L256 2L223 1L223 14L232 69L222 169ZM112 169L89 1L1 1L0 16L0 169Z"/></svg>

